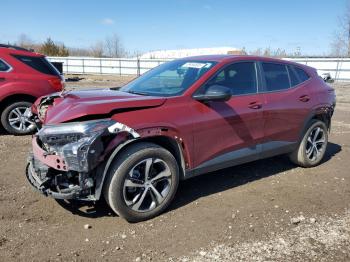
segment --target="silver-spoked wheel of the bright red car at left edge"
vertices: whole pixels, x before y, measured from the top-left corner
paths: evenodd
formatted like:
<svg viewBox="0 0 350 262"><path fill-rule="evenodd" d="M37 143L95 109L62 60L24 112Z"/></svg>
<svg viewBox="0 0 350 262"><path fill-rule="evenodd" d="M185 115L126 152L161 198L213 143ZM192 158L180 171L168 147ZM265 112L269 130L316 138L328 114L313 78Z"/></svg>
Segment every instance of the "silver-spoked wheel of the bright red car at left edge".
<svg viewBox="0 0 350 262"><path fill-rule="evenodd" d="M35 124L30 123L23 113L32 103L27 101L14 102L6 105L1 113L1 124L12 135L27 135L33 133Z"/></svg>

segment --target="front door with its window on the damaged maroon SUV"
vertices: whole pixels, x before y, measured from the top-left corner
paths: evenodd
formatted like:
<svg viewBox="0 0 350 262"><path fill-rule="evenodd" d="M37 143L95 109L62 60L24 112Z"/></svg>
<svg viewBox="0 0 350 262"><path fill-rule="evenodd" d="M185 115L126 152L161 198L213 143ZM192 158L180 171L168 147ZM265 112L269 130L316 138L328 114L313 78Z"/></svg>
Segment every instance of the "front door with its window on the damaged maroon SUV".
<svg viewBox="0 0 350 262"><path fill-rule="evenodd" d="M222 85L232 93L226 102L194 101L194 166L204 168L202 172L257 156L263 136L264 103L263 94L257 92L258 79L254 61L235 62L201 87L200 92L204 92L211 85Z"/></svg>

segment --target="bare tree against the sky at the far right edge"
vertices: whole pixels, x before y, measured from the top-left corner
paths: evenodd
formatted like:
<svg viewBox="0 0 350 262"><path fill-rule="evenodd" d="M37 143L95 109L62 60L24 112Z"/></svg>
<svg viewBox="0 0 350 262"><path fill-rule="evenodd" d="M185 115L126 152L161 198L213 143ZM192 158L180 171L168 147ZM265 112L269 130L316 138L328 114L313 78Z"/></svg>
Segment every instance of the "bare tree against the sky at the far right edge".
<svg viewBox="0 0 350 262"><path fill-rule="evenodd" d="M338 29L334 33L331 52L334 56L350 56L350 1L345 13L338 18Z"/></svg>

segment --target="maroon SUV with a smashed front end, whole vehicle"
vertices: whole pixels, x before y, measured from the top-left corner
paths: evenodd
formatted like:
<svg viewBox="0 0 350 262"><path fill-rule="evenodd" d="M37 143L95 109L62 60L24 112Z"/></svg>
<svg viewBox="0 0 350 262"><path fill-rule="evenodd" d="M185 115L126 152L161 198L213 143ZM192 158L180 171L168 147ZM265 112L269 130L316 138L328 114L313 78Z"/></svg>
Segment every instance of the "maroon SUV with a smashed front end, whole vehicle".
<svg viewBox="0 0 350 262"><path fill-rule="evenodd" d="M175 60L120 90L37 100L26 176L44 195L104 197L141 221L170 204L181 179L280 154L316 166L334 107L334 90L311 67L251 56Z"/></svg>

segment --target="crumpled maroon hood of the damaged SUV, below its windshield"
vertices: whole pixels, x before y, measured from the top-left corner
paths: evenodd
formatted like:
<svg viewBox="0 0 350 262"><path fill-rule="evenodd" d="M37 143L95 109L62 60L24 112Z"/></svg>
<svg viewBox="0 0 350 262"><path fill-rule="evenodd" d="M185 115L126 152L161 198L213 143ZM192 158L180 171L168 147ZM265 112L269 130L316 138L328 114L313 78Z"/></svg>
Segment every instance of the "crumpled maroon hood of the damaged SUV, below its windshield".
<svg viewBox="0 0 350 262"><path fill-rule="evenodd" d="M40 101L42 102L43 98ZM162 97L136 95L110 89L69 91L54 98L48 105L44 124L57 124L89 115L109 117L118 111L161 106L165 101L166 98Z"/></svg>

